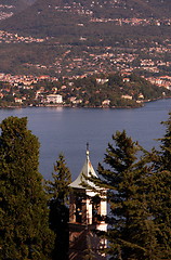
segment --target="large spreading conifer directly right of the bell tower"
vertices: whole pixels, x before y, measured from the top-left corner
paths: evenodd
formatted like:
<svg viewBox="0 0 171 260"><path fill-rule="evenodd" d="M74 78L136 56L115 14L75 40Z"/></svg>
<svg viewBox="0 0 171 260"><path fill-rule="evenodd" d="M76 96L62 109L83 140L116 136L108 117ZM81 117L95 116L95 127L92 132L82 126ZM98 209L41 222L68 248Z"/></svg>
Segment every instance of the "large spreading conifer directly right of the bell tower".
<svg viewBox="0 0 171 260"><path fill-rule="evenodd" d="M113 135L104 162L98 165L101 186L108 188L110 213L107 239L110 259L157 260L156 226L148 208L146 178L149 167L142 147L128 138L126 131ZM137 158L137 155L140 158Z"/></svg>

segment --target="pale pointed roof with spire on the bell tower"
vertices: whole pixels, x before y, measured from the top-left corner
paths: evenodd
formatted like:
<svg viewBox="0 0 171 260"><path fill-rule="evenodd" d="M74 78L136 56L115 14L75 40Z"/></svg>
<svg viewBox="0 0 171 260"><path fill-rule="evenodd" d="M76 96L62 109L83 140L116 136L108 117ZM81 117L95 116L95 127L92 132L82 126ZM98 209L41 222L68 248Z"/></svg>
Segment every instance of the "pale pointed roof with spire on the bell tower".
<svg viewBox="0 0 171 260"><path fill-rule="evenodd" d="M75 188L86 188L84 186L81 185L81 183L83 182L84 184L91 185L92 187L95 187L95 184L90 182L89 180L86 180L84 177L97 177L97 174L95 173L95 170L90 161L90 157L89 157L89 144L87 144L87 158L84 161L84 165L79 173L79 176L77 177L77 179L71 182L69 184L70 187L75 187Z"/></svg>

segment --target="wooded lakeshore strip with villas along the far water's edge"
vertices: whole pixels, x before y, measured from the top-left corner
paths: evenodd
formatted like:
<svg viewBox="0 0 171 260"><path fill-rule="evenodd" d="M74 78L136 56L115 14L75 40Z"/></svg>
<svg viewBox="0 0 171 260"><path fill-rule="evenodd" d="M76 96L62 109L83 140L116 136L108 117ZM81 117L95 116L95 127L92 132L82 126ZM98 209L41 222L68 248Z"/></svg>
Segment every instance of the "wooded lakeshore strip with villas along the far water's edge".
<svg viewBox="0 0 171 260"><path fill-rule="evenodd" d="M0 74L0 106L139 107L171 96L171 77L131 73L50 77Z"/></svg>

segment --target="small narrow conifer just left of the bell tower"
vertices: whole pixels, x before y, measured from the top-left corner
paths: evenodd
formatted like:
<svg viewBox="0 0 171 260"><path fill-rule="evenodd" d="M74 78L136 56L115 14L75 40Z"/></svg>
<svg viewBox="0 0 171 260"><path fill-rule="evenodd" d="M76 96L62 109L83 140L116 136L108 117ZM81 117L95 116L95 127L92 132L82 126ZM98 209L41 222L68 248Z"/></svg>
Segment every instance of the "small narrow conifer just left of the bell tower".
<svg viewBox="0 0 171 260"><path fill-rule="evenodd" d="M71 174L66 167L63 154L60 154L58 160L54 165L52 181L47 182L47 191L50 196L50 227L54 231L55 249L53 259L67 259L68 252L68 221L69 210L67 207L69 196L69 183Z"/></svg>

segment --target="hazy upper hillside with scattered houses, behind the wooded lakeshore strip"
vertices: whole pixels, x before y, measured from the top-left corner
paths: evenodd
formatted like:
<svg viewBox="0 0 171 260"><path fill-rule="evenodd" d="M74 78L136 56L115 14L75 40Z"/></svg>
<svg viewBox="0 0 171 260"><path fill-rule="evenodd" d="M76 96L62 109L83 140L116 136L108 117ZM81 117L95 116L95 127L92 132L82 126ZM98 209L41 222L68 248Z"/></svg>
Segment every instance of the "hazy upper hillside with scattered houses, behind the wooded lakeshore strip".
<svg viewBox="0 0 171 260"><path fill-rule="evenodd" d="M0 21L1 73L170 75L170 0L15 2Z"/></svg>

